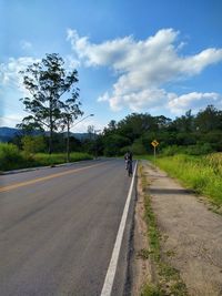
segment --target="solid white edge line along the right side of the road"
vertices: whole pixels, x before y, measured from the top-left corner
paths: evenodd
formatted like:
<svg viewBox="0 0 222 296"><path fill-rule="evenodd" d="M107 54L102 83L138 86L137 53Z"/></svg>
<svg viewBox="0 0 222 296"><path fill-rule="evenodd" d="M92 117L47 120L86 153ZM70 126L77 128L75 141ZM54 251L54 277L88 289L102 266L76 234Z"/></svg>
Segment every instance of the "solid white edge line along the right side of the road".
<svg viewBox="0 0 222 296"><path fill-rule="evenodd" d="M123 233L124 233L124 228L125 228L128 212L129 212L129 207L130 207L130 200L131 200L133 183L134 183L134 178L135 178L137 165L138 165L138 163L135 163L135 167L134 167L134 172L133 172L133 176L132 176L132 182L131 182L130 190L128 193L128 198L127 198L127 202L124 205L122 218L120 222L118 235L117 235L114 247L112 251L112 257L110 261L110 265L108 267L108 272L107 272L107 276L104 279L103 287L102 287L101 296L110 296L112 293L112 286L113 286L114 276L115 276L115 272L117 272L118 259L119 259L120 248L121 248L121 244L122 244L122 237L123 237Z"/></svg>

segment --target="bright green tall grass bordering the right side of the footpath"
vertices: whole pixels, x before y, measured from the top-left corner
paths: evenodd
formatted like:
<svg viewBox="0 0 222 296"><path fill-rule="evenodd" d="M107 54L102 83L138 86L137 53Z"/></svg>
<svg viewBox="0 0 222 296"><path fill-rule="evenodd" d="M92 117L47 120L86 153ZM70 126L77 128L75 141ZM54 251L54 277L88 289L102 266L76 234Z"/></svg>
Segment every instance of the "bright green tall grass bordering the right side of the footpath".
<svg viewBox="0 0 222 296"><path fill-rule="evenodd" d="M157 164L171 176L222 205L222 153L206 156L173 155L157 159Z"/></svg>

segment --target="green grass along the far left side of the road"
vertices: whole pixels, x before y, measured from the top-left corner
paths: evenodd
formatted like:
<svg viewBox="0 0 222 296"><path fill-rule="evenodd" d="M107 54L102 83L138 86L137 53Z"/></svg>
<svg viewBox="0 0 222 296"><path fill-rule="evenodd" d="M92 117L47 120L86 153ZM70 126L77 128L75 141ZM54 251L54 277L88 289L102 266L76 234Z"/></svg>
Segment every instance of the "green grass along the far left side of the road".
<svg viewBox="0 0 222 296"><path fill-rule="evenodd" d="M92 160L88 153L74 152L70 154L70 162ZM54 165L67 162L65 153L28 154L18 150L13 144L0 143L0 171L11 171L42 165Z"/></svg>

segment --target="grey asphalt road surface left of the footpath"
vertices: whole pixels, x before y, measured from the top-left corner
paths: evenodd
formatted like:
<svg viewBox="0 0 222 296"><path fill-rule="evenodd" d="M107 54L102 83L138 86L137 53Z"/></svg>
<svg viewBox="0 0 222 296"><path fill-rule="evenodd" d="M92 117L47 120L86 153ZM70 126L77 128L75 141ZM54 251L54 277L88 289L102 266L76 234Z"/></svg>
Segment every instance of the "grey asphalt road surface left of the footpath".
<svg viewBox="0 0 222 296"><path fill-rule="evenodd" d="M0 295L101 295L131 184L123 161L0 178ZM123 294L132 206L112 295Z"/></svg>

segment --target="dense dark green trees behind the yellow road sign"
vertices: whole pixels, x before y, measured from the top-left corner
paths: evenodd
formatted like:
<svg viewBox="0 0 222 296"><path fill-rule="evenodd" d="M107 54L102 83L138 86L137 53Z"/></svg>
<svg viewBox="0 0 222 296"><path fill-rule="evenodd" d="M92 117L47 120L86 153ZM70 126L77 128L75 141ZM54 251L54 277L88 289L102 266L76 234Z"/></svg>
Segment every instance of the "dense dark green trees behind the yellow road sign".
<svg viewBox="0 0 222 296"><path fill-rule="evenodd" d="M102 135L103 151L108 155L121 155L129 149L134 154L151 153L153 140L160 143L159 150L178 146L194 154L222 151L221 139L222 111L213 105L196 115L190 110L174 120L132 113L120 122L110 121Z"/></svg>

